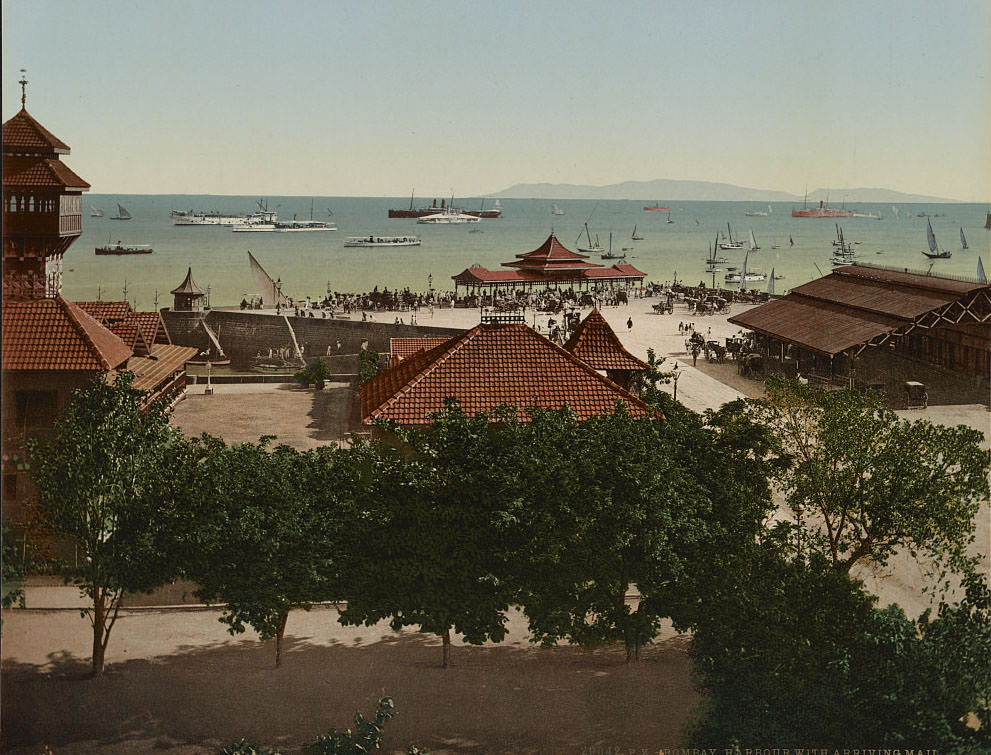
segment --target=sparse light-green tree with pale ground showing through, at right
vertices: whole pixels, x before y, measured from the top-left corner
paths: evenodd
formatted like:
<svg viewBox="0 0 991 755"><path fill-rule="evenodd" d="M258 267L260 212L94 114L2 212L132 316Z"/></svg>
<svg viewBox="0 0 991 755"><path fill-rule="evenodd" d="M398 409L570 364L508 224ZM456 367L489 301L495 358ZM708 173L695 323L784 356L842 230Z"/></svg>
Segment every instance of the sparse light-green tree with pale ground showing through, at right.
<svg viewBox="0 0 991 755"><path fill-rule="evenodd" d="M867 559L883 566L903 548L938 569L971 568L973 520L988 498L980 432L900 420L880 394L782 380L750 405L791 462L777 482L797 549L843 572Z"/></svg>

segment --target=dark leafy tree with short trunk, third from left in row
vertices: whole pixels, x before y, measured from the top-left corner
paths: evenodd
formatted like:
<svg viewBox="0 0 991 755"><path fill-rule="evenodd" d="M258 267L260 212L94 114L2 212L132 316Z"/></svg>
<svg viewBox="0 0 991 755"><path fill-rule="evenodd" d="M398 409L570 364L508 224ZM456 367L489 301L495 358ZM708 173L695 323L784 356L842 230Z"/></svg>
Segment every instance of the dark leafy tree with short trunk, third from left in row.
<svg viewBox="0 0 991 755"><path fill-rule="evenodd" d="M452 629L473 644L506 634L519 502L500 422L469 417L453 399L433 420L423 430L389 426L391 442L351 449L340 620L388 618L397 631L437 634L446 668Z"/></svg>

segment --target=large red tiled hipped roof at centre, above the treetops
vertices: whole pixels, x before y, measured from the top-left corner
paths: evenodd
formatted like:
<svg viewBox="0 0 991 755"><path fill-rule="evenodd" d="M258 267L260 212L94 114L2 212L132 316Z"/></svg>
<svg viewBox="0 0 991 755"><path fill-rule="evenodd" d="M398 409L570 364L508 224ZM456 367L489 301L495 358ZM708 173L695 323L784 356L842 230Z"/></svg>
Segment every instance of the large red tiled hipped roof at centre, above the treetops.
<svg viewBox="0 0 991 755"><path fill-rule="evenodd" d="M551 409L567 404L584 420L612 413L617 401L634 416L649 411L640 399L526 325L483 324L362 385L362 419L425 424L450 396L468 414L502 404ZM518 416L526 420L525 411Z"/></svg>

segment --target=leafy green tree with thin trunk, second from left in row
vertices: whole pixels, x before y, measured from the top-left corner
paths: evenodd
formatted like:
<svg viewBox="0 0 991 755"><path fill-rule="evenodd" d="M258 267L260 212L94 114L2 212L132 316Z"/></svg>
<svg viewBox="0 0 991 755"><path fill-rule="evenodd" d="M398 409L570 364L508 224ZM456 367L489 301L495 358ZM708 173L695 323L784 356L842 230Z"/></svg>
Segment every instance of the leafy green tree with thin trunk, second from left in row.
<svg viewBox="0 0 991 755"><path fill-rule="evenodd" d="M318 468L338 463L336 447L301 453L289 446L226 446L202 436L183 488L186 573L207 602L224 604L232 634L251 626L275 638L275 665L293 608L338 597L337 519L315 483Z"/></svg>

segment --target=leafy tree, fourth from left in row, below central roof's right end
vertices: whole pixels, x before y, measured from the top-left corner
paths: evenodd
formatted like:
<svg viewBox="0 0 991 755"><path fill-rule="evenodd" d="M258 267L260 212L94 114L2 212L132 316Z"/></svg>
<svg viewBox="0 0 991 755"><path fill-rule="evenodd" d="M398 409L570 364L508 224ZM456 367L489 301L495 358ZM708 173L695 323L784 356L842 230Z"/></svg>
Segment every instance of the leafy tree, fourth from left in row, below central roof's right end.
<svg viewBox="0 0 991 755"><path fill-rule="evenodd" d="M533 538L522 601L543 644L621 641L635 660L656 635L662 596L684 577L684 556L705 539L710 514L704 491L672 463L658 424L622 404L583 422L531 411L528 460L519 460Z"/></svg>

